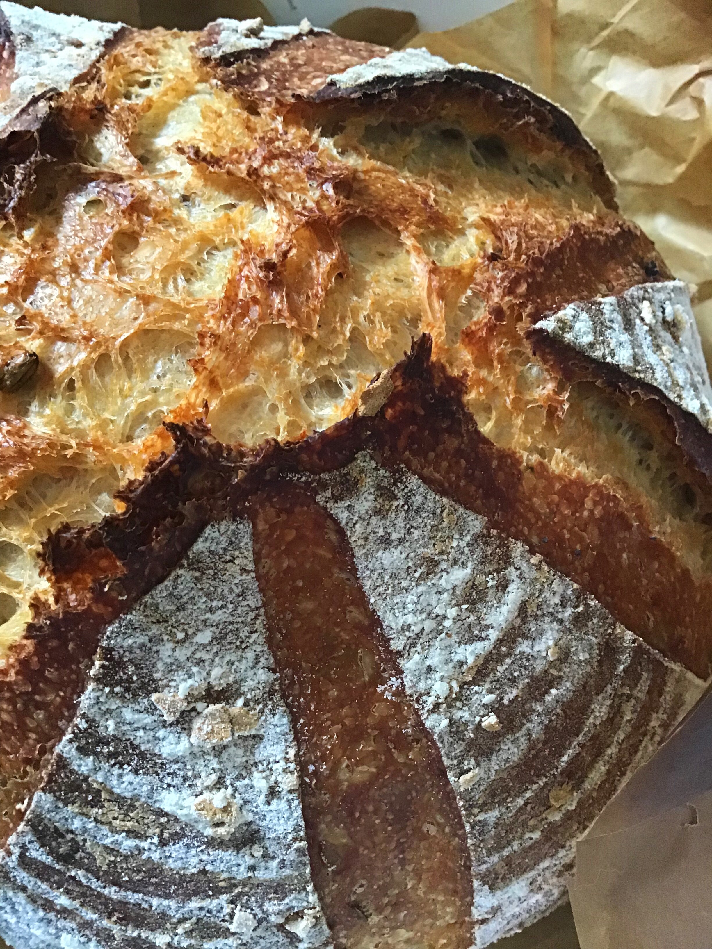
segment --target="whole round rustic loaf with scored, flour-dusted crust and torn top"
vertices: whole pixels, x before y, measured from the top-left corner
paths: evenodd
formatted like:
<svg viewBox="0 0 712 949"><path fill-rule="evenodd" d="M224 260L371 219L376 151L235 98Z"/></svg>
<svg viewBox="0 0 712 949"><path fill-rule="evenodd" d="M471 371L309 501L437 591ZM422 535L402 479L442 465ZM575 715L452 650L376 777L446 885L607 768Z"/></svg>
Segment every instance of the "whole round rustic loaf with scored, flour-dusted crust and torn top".
<svg viewBox="0 0 712 949"><path fill-rule="evenodd" d="M534 921L709 675L687 288L503 77L0 7L0 936Z"/></svg>

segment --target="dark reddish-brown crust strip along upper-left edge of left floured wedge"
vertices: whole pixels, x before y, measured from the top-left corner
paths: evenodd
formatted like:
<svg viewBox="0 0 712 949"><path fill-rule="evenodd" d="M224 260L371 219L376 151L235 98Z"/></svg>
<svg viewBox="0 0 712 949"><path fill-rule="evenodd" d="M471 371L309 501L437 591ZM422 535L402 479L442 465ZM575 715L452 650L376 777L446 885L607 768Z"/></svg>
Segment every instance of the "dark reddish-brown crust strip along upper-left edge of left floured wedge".
<svg viewBox="0 0 712 949"><path fill-rule="evenodd" d="M200 428L173 434L174 451L122 492L121 515L47 543L56 604L38 610L0 690L3 839L71 722L107 623L163 580L208 521L227 510L239 474L229 453L208 444Z"/></svg>

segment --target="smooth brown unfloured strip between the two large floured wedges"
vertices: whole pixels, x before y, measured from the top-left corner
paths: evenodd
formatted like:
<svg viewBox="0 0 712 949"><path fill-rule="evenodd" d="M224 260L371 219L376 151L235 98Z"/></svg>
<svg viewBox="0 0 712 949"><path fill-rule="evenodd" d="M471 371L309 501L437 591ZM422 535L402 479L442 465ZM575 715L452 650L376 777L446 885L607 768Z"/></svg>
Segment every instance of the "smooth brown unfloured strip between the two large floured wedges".
<svg viewBox="0 0 712 949"><path fill-rule="evenodd" d="M293 484L278 482L250 508L299 749L312 879L335 945L471 949L472 867L458 801L347 536Z"/></svg>

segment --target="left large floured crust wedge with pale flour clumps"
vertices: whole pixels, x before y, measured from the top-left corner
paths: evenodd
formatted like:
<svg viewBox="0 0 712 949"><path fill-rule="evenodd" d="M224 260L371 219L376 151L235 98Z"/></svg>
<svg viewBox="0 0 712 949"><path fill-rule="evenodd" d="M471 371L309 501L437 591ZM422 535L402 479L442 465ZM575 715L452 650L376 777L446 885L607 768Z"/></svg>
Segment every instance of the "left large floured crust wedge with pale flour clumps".
<svg viewBox="0 0 712 949"><path fill-rule="evenodd" d="M330 945L295 756L250 527L214 524L104 637L0 863L0 935L23 949Z"/></svg>

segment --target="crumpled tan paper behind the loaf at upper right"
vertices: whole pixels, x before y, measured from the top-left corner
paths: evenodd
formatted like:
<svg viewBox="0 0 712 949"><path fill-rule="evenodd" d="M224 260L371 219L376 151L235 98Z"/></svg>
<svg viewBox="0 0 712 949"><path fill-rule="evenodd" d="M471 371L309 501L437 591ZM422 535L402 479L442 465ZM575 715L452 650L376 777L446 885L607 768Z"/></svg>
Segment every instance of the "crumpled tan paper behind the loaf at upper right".
<svg viewBox="0 0 712 949"><path fill-rule="evenodd" d="M712 3L516 0L407 45L505 73L571 112L622 213L698 287L712 363Z"/></svg>

